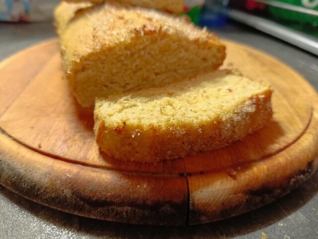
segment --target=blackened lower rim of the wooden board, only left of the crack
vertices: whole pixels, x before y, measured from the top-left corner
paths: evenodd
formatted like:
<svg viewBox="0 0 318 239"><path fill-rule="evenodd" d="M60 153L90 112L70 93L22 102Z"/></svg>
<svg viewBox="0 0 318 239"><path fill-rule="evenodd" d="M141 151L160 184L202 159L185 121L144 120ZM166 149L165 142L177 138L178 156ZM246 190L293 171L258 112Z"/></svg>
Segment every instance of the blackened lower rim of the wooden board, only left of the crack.
<svg viewBox="0 0 318 239"><path fill-rule="evenodd" d="M1 156L1 155L0 155ZM184 179L186 180L186 179ZM180 203L169 200L121 203L120 198L100 200L68 188L49 192L50 185L41 185L23 177L23 173L0 157L0 184L18 195L59 211L94 219L141 225L183 226L187 212L187 194Z"/></svg>

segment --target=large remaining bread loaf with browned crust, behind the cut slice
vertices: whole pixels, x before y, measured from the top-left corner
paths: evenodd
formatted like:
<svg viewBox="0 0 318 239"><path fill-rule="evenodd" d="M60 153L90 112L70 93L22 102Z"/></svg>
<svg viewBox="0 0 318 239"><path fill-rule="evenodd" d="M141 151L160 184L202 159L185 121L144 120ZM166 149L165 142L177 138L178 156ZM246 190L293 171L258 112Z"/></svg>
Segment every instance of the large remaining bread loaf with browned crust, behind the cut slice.
<svg viewBox="0 0 318 239"><path fill-rule="evenodd" d="M183 17L112 1L73 13L65 26L69 4L58 7L56 27L71 90L84 107L217 69L225 58L216 36Z"/></svg>

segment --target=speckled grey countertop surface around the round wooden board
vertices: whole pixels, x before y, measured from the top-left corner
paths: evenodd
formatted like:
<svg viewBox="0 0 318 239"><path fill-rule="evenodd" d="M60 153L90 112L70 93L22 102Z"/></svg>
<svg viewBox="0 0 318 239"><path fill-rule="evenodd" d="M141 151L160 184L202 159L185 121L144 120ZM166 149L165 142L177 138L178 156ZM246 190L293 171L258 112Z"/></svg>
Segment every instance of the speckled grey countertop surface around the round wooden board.
<svg viewBox="0 0 318 239"><path fill-rule="evenodd" d="M219 36L262 50L294 68L318 90L318 58L238 23L212 29ZM55 37L51 23L0 23L0 60ZM0 185L0 239L317 239L318 173L287 196L244 215L188 227L138 226L63 213L31 202Z"/></svg>

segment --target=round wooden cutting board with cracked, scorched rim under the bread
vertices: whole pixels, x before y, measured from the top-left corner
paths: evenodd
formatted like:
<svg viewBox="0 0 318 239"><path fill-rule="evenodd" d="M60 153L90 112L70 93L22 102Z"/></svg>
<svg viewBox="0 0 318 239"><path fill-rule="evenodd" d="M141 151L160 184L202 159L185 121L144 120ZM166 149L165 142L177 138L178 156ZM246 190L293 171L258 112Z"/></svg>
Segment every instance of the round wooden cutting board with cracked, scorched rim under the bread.
<svg viewBox="0 0 318 239"><path fill-rule="evenodd" d="M157 164L118 161L94 141L92 109L67 86L57 40L0 64L0 183L47 206L103 220L185 225L267 204L318 168L318 96L272 57L225 41L224 68L268 82L272 122L232 145Z"/></svg>

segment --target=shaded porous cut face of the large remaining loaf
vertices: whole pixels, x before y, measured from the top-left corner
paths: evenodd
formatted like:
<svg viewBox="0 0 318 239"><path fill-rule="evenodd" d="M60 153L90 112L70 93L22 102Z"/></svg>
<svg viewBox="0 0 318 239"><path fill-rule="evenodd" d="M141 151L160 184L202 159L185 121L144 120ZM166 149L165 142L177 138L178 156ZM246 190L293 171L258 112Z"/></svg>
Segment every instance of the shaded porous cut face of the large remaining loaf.
<svg viewBox="0 0 318 239"><path fill-rule="evenodd" d="M71 84L81 105L94 104L95 97L164 86L220 65L219 49L212 45L193 44L164 32L137 38L82 61Z"/></svg>

